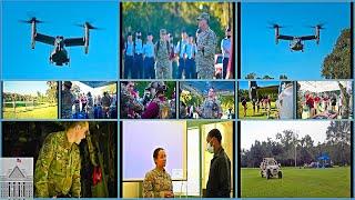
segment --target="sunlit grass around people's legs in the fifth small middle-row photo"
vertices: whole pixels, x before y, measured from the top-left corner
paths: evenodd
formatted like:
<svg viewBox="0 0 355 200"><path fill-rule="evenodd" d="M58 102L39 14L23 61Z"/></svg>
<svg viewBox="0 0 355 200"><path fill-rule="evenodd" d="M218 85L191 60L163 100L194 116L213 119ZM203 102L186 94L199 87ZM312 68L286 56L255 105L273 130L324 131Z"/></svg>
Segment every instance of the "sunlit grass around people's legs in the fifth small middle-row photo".
<svg viewBox="0 0 355 200"><path fill-rule="evenodd" d="M262 107L260 108L260 111L257 112L257 108L255 108L255 114L253 116L253 104L251 102L246 103L247 110L246 110L246 117L244 118L244 107L242 106L242 102L239 102L237 104L237 113L240 119L267 119L267 113ZM277 118L277 109L276 103L271 102L271 113L270 119L276 119Z"/></svg>

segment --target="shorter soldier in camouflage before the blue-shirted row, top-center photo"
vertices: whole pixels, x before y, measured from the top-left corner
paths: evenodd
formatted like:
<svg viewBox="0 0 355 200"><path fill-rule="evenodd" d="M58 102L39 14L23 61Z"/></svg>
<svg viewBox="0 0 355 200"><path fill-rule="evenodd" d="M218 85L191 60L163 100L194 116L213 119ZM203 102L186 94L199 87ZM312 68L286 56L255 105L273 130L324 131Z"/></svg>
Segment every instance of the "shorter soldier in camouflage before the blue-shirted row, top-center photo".
<svg viewBox="0 0 355 200"><path fill-rule="evenodd" d="M160 41L155 44L155 77L156 79L171 79L170 70L170 44L166 38L166 30L160 30Z"/></svg>

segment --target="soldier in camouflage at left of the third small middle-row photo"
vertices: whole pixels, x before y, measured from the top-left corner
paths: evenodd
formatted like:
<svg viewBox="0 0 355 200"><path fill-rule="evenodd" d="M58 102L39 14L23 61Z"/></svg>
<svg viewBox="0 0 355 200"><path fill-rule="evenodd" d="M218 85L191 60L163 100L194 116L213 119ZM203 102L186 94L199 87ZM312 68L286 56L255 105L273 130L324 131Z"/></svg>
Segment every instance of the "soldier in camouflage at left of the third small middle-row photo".
<svg viewBox="0 0 355 200"><path fill-rule="evenodd" d="M133 97L132 90L134 82L124 81L121 83L121 118L134 119L140 118L140 114L144 110L144 106L138 101L136 97Z"/></svg>

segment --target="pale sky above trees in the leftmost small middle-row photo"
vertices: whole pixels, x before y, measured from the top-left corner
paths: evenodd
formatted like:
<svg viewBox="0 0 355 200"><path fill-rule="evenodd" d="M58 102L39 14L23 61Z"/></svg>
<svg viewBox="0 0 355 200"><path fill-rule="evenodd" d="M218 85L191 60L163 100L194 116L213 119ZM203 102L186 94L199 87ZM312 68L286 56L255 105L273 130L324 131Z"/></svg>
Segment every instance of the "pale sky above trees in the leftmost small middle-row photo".
<svg viewBox="0 0 355 200"><path fill-rule="evenodd" d="M45 93L47 81L4 81L3 92L21 93L21 94L36 94L37 91Z"/></svg>

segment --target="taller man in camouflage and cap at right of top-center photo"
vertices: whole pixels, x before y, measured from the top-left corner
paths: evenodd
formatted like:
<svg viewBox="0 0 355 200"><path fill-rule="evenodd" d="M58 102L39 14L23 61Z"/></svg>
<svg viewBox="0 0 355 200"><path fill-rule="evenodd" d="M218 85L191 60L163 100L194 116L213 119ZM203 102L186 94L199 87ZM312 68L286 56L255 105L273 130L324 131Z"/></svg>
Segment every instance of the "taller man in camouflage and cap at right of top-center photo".
<svg viewBox="0 0 355 200"><path fill-rule="evenodd" d="M216 36L209 27L210 14L201 13L197 18L199 29L196 32L196 72L197 79L213 79L214 77L214 54L217 44Z"/></svg>

